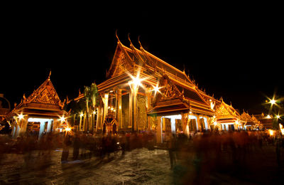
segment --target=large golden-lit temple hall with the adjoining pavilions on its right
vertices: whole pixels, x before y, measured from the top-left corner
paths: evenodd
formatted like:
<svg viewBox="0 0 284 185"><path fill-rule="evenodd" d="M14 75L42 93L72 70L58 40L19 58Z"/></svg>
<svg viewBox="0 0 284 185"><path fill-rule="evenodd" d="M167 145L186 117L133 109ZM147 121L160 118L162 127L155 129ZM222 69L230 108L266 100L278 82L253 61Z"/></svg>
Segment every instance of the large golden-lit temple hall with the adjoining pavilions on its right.
<svg viewBox="0 0 284 185"><path fill-rule="evenodd" d="M141 43L139 49L131 41L126 47L118 38L107 80L97 87L96 130L104 133L155 130L162 142L166 133L246 128L233 107L207 95L184 71L148 53Z"/></svg>

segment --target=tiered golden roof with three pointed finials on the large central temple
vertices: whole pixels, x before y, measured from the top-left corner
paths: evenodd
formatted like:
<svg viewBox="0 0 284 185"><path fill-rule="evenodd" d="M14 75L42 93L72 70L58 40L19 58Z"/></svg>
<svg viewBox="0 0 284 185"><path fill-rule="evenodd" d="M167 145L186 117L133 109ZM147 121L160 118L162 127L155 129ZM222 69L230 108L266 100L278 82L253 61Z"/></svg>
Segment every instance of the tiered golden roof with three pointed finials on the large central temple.
<svg viewBox="0 0 284 185"><path fill-rule="evenodd" d="M108 79L98 85L99 92L109 90L116 85L126 84L131 80L129 74L136 76L137 73L140 78L145 79L143 83L146 85L151 87L151 85L155 86L159 83L159 86L163 86L160 90L162 96L169 89L172 91L170 98L158 98L160 102L156 101L155 106L148 113L192 110L206 115L214 115L209 103L204 100L204 97L199 93L200 90L185 72L153 56L142 46L140 49L135 48L131 41L130 47L126 47L118 39L111 67L107 71Z"/></svg>

